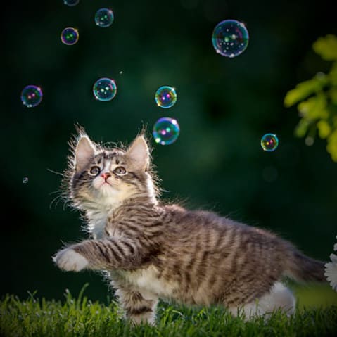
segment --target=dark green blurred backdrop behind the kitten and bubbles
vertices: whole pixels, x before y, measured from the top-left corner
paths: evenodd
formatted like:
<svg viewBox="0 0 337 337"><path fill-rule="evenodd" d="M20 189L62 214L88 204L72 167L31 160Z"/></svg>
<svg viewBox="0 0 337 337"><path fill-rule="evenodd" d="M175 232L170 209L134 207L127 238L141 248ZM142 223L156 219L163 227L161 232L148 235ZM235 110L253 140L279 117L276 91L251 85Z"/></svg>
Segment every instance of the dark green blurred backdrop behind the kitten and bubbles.
<svg viewBox="0 0 337 337"><path fill-rule="evenodd" d="M38 291L63 298L85 282L93 300L108 295L101 276L65 273L51 262L62 242L84 238L79 214L53 203L75 123L94 141L126 141L148 125L163 197L191 208L216 210L290 239L308 255L327 260L337 234L337 164L325 141L307 147L293 136L295 108L286 91L329 63L311 49L336 34L331 1L7 1L1 21L1 295ZM115 22L96 27L94 13L110 6ZM248 49L233 59L212 47L215 25L246 23ZM77 27L74 46L61 43ZM123 74L120 75L120 71ZM92 84L113 77L117 96L95 101ZM20 92L40 85L42 103L26 108ZM162 85L177 88L170 109L155 106ZM158 146L151 128L175 117L181 134ZM260 138L279 136L266 153ZM23 184L23 177L29 182ZM56 193L54 193L56 192Z"/></svg>

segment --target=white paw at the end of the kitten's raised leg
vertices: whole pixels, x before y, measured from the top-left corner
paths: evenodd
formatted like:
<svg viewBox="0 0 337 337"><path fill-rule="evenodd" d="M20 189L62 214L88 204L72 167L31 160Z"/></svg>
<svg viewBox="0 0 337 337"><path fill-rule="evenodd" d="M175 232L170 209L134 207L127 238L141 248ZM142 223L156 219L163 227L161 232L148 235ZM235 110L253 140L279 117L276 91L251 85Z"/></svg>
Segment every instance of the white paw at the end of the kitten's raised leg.
<svg viewBox="0 0 337 337"><path fill-rule="evenodd" d="M65 270L66 272L80 272L89 265L88 260L83 257L81 254L76 253L75 250L71 248L65 248L60 250L53 261L56 262L56 265L60 269Z"/></svg>

